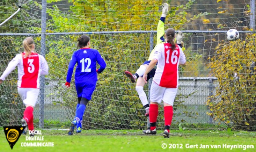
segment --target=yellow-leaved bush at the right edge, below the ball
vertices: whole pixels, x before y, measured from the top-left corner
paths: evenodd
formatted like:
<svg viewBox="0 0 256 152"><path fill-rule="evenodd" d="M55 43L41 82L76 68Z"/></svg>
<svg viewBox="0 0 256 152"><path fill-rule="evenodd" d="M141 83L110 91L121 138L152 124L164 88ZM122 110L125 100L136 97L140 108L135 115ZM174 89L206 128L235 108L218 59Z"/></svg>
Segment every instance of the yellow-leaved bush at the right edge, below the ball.
<svg viewBox="0 0 256 152"><path fill-rule="evenodd" d="M210 68L219 87L207 102L213 112L209 115L237 130L256 131L255 37L246 34L244 41L220 43L211 58Z"/></svg>

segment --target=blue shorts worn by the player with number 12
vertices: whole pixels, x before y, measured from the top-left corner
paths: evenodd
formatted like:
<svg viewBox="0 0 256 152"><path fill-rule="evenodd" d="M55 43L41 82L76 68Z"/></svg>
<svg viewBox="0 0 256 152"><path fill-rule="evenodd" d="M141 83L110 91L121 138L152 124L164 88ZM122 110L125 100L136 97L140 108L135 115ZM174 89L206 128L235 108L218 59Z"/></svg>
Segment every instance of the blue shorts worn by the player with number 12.
<svg viewBox="0 0 256 152"><path fill-rule="evenodd" d="M97 81L88 81L83 83L76 83L77 97L84 97L87 100L92 98L92 93L96 88Z"/></svg>

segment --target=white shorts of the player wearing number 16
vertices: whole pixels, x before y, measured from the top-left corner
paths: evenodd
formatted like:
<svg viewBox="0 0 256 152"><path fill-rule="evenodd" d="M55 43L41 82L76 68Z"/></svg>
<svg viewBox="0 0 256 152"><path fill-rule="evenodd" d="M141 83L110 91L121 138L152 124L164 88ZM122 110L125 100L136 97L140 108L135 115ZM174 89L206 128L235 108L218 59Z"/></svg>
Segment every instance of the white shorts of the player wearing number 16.
<svg viewBox="0 0 256 152"><path fill-rule="evenodd" d="M162 101L172 105L177 94L178 88L165 88L158 86L154 81L152 81L150 88L150 101L161 103Z"/></svg>

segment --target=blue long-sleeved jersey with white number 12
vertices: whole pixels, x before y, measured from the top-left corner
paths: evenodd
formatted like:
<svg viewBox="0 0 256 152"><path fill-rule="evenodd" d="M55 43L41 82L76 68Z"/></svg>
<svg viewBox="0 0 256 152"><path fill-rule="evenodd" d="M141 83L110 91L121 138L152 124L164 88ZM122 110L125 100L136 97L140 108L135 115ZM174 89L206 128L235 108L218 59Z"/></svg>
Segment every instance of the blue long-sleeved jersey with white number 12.
<svg viewBox="0 0 256 152"><path fill-rule="evenodd" d="M66 82L71 81L74 66L76 66L75 82L97 81L96 62L100 64L98 73L106 68L106 62L96 49L82 48L73 53L69 62Z"/></svg>

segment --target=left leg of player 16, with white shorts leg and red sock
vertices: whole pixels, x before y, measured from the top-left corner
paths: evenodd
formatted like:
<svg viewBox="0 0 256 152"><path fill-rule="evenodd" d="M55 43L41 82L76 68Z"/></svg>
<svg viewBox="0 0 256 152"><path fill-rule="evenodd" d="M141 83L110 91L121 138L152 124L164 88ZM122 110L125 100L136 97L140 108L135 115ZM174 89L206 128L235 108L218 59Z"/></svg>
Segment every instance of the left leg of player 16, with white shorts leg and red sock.
<svg viewBox="0 0 256 152"><path fill-rule="evenodd" d="M162 101L162 95L165 88L158 86L154 81L150 89L150 107L149 107L149 121L150 129L146 129L143 133L156 134L156 120L158 116L158 103Z"/></svg>

